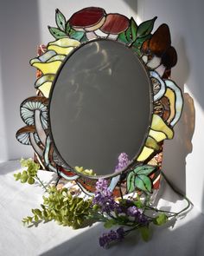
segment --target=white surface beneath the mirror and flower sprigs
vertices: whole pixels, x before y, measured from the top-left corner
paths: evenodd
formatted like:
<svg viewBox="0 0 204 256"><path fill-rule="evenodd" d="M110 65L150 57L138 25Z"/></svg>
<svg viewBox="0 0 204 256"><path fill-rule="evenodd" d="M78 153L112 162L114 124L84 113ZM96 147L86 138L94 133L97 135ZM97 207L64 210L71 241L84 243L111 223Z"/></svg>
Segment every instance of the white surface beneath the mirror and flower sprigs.
<svg viewBox="0 0 204 256"><path fill-rule="evenodd" d="M32 214L31 208L41 203L42 188L15 181L13 174L20 169L19 161L0 164L0 255L204 255L204 215L194 207L182 220L172 226L153 227L152 239L146 243L137 233L132 233L117 246L105 250L99 246L99 236L105 231L100 224L73 230L48 222L37 228L22 226L22 218ZM52 179L52 173L42 173ZM159 205L179 210L183 201L164 183Z"/></svg>

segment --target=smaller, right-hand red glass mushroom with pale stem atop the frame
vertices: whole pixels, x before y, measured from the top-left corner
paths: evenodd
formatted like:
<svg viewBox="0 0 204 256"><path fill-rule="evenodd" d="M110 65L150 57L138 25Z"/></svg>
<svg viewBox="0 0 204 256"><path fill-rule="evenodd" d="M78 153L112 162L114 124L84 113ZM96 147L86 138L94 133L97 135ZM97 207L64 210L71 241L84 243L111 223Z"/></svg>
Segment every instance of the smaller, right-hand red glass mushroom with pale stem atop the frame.
<svg viewBox="0 0 204 256"><path fill-rule="evenodd" d="M129 19L118 13L111 13L106 16L105 23L99 29L106 34L107 38L116 40L118 34L127 30Z"/></svg>

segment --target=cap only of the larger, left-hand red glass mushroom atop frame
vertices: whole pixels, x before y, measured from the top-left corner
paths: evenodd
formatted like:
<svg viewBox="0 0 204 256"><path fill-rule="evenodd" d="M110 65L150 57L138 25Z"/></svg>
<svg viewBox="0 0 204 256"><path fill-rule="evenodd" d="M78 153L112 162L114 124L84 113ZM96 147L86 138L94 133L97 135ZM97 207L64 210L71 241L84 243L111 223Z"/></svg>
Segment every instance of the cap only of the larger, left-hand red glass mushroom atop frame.
<svg viewBox="0 0 204 256"><path fill-rule="evenodd" d="M92 28L105 17L105 10L99 7L88 7L74 13L69 24L74 28ZM103 23L102 23L103 24ZM102 25L101 24L101 25ZM97 28L98 29L98 28Z"/></svg>

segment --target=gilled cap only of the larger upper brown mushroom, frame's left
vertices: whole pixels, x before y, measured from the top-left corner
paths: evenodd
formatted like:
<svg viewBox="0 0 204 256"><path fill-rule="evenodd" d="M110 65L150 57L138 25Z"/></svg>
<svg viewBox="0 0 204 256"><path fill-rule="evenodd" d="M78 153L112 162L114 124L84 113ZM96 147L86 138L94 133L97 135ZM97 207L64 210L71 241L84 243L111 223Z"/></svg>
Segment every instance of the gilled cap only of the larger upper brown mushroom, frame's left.
<svg viewBox="0 0 204 256"><path fill-rule="evenodd" d="M41 125L48 128L48 99L41 96L30 97L21 104L22 120L29 126L35 125L35 110L41 111Z"/></svg>

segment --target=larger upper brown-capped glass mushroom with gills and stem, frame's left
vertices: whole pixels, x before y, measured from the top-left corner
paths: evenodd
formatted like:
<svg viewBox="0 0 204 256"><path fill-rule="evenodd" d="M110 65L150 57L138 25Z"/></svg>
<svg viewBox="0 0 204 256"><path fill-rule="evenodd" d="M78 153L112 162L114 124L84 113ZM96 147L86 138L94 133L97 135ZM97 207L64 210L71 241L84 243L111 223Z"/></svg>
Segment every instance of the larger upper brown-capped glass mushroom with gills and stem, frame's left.
<svg viewBox="0 0 204 256"><path fill-rule="evenodd" d="M22 120L29 126L35 126L36 133L43 145L46 143L45 129L48 128L48 99L45 97L30 97L22 102Z"/></svg>

